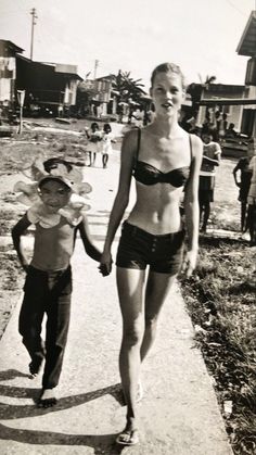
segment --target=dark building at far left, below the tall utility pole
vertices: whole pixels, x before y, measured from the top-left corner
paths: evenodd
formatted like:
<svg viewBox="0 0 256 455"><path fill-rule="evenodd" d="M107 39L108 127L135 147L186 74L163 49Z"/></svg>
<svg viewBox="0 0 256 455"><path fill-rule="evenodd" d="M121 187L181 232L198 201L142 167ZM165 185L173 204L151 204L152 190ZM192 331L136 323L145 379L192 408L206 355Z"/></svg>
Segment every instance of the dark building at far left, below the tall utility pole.
<svg viewBox="0 0 256 455"><path fill-rule="evenodd" d="M0 40L0 103L13 108L16 90L25 90L25 108L69 110L76 104L77 85L82 78L69 64L34 62L22 55L23 49Z"/></svg>

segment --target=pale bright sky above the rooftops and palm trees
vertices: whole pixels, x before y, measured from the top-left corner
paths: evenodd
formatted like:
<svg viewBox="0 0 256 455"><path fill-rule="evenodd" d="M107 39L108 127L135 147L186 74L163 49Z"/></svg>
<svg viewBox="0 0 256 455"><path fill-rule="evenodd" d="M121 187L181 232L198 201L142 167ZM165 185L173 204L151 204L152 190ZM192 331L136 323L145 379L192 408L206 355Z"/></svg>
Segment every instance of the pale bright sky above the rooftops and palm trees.
<svg viewBox="0 0 256 455"><path fill-rule="evenodd" d="M154 67L180 65L187 83L215 75L244 85L236 48L256 0L0 0L0 39L33 59L78 65L85 78L130 72L148 90Z"/></svg>

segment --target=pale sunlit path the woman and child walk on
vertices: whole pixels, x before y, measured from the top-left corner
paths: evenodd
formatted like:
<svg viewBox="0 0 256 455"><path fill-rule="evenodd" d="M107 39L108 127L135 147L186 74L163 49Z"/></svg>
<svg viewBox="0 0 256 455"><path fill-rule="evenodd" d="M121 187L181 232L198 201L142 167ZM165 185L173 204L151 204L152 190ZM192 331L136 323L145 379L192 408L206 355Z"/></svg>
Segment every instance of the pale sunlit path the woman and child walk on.
<svg viewBox="0 0 256 455"><path fill-rule="evenodd" d="M102 248L117 186L118 155L111 157L107 169L97 166L85 168L85 179L93 188L88 212L91 233ZM5 189L8 182L11 179L5 180ZM132 184L131 204L133 198ZM31 248L31 238L27 238L27 248ZM141 443L131 448L115 444L126 413L118 375L121 324L115 275L103 279L79 241L73 267L69 339L60 400L53 409L35 407L40 378L31 381L27 377L28 358L16 329L21 296L0 342L1 454L117 455L129 451L135 455L231 455L212 379L194 345L193 328L177 286L166 302L156 344L143 367Z"/></svg>

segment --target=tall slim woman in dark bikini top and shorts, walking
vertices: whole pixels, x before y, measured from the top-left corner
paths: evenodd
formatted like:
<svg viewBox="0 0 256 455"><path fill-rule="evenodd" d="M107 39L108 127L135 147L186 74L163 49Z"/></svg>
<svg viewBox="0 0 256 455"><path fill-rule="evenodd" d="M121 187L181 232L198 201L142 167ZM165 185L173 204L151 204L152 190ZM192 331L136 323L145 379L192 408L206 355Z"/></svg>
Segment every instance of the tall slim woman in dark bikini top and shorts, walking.
<svg viewBox="0 0 256 455"><path fill-rule="evenodd" d="M137 201L123 224L116 261L124 321L119 369L127 404L127 425L116 441L125 445L139 441L136 406L140 366L154 341L159 311L182 263L182 194L188 229L188 251L182 269L188 276L195 267L197 254L202 141L178 124L184 99L180 68L170 63L162 64L154 69L151 83L155 117L146 127L130 130L124 138L119 186L101 260L102 273L110 273L111 245L128 205L133 175Z"/></svg>

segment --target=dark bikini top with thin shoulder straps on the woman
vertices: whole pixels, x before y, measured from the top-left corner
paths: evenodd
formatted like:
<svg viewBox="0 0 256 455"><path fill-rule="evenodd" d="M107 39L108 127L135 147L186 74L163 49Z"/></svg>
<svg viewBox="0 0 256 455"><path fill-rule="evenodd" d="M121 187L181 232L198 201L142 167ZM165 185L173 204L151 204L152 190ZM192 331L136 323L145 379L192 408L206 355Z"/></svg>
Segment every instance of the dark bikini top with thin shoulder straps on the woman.
<svg viewBox="0 0 256 455"><path fill-rule="evenodd" d="M163 173L152 164L138 160L140 151L141 130L138 129L138 147L132 175L137 181L143 185L170 184L175 188L184 186L190 175L190 166L178 167L177 169ZM190 136L190 153L192 161L192 142Z"/></svg>

